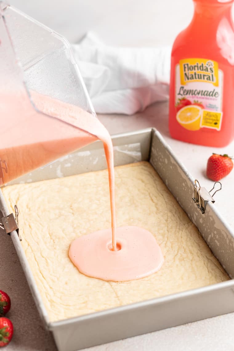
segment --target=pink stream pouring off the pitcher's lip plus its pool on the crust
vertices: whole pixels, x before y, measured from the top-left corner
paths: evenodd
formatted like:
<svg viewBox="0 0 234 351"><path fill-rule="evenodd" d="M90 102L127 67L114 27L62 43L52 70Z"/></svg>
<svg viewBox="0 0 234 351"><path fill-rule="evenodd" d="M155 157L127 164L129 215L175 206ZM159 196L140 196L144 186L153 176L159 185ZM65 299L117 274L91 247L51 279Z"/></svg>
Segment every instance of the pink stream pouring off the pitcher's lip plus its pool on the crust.
<svg viewBox="0 0 234 351"><path fill-rule="evenodd" d="M139 279L160 269L163 256L151 233L136 226L116 230L114 153L111 136L93 114L74 105L32 94L39 110L88 132L103 142L109 175L111 230L101 230L75 239L69 257L83 274L112 281ZM112 241L110 242L110 239Z"/></svg>

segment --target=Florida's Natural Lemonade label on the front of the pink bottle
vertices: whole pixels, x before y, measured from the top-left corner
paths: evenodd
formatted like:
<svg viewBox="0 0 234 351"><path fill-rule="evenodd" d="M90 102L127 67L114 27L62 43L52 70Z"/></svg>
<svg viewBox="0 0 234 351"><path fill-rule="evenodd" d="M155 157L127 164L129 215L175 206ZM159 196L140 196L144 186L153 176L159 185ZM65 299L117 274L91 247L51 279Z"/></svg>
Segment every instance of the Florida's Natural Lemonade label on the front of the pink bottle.
<svg viewBox="0 0 234 351"><path fill-rule="evenodd" d="M175 67L176 120L187 130L222 124L223 72L218 62L208 59L183 59Z"/></svg>

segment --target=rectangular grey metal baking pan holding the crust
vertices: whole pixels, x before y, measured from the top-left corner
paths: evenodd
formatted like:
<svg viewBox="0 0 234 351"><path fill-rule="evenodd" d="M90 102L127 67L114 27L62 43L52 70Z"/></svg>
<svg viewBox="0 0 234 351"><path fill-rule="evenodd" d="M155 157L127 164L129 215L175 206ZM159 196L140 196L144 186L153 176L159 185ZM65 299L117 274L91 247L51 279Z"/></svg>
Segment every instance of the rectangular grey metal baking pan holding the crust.
<svg viewBox="0 0 234 351"><path fill-rule="evenodd" d="M208 201L201 213L194 197L194 179L175 158L155 129L119 134L112 138L115 165L148 160L174 195L190 220L198 227L213 254L230 278L234 277L234 233ZM134 152L131 152L134 150ZM68 166L71 165L71 166ZM106 168L100 141L29 173L13 183L37 181ZM0 210L9 214L0 192ZM217 240L217 236L218 239ZM38 311L52 331L59 351L73 351L199 319L234 311L234 280L146 300L105 311L51 323L16 231L11 233Z"/></svg>

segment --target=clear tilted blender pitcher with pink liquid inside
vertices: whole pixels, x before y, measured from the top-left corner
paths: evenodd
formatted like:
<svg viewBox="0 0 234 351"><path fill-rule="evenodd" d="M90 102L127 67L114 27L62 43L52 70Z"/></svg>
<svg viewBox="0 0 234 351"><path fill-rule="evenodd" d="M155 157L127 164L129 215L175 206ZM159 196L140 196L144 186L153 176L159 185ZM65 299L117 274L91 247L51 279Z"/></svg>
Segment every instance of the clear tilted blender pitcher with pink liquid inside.
<svg viewBox="0 0 234 351"><path fill-rule="evenodd" d="M65 38L0 1L0 186L97 138L95 112Z"/></svg>

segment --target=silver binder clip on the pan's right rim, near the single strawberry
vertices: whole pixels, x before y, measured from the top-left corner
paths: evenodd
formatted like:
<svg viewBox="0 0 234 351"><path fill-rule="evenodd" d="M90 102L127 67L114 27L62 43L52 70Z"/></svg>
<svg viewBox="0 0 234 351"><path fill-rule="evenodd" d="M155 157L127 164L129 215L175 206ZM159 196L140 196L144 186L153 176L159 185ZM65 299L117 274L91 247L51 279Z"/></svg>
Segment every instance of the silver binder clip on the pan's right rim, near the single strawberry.
<svg viewBox="0 0 234 351"><path fill-rule="evenodd" d="M214 183L213 188L210 191L207 191L205 187L201 187L200 183L197 179L195 179L195 186L194 186L194 197L192 198L194 203L196 204L196 206L198 206L199 210L201 211L201 213L205 213L205 209L206 209L206 204L208 201L211 201L212 203L215 202L213 196L214 194L222 189L222 184L219 181L216 181ZM219 184L220 187L217 188L214 193L211 195L210 193L212 192L212 190L214 190L214 188L216 187L216 184Z"/></svg>

